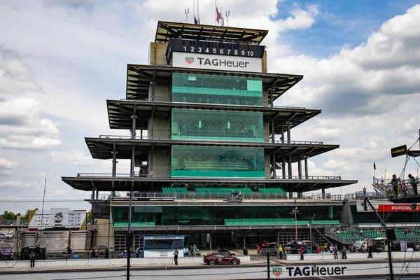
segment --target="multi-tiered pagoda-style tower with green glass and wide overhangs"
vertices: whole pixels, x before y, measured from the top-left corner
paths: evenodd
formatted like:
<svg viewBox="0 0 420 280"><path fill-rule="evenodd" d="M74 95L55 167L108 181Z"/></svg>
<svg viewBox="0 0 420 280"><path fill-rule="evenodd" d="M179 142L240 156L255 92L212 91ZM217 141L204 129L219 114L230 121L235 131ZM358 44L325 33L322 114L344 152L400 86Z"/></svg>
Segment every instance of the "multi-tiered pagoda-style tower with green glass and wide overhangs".
<svg viewBox="0 0 420 280"><path fill-rule="evenodd" d="M92 192L92 244L120 250L144 235L186 235L209 249L319 243L320 230L339 225L343 204L328 189L357 181L309 172L309 158L339 146L293 140L293 128L321 111L274 106L303 76L267 71L267 32L158 22L149 64L128 64L125 99L106 102L111 129L131 136L85 139L112 172L63 177ZM242 200L228 199L239 190Z"/></svg>

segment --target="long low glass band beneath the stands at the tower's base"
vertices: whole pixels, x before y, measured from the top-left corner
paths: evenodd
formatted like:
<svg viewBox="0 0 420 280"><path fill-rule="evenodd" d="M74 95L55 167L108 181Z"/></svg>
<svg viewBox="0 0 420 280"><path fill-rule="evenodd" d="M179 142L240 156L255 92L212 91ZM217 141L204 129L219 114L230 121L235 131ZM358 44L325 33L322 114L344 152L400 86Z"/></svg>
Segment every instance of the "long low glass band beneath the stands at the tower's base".
<svg viewBox="0 0 420 280"><path fill-rule="evenodd" d="M144 208L144 207L140 207ZM159 211L146 214L132 212L132 226L155 225L294 225L294 207L285 206L235 206L235 207L156 207ZM144 209L146 211L146 209ZM299 207L297 224L307 224L314 214L313 224L338 224L341 206ZM116 226L128 225L128 207L112 207L113 213L121 213L123 219L113 216ZM146 215L146 216L145 216ZM319 216L319 218L318 218ZM145 224L146 217L148 225Z"/></svg>

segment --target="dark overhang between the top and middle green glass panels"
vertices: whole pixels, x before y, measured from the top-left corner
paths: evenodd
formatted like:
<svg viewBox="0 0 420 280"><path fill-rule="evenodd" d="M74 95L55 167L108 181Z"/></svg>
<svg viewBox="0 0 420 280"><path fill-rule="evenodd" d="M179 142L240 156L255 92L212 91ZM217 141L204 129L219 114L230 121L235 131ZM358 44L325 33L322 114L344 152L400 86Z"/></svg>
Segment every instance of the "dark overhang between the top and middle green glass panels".
<svg viewBox="0 0 420 280"><path fill-rule="evenodd" d="M304 109L302 107L267 107L267 106L240 106L222 104L192 104L181 102L148 102L140 100L106 100L109 116L109 128L117 130L131 130L132 116L137 116L136 130L148 130L148 119L152 113L155 116L170 118L172 109L200 109L224 110L243 112L262 112L265 121L274 121L274 134L281 134L290 130L310 118L317 116L321 110Z"/></svg>

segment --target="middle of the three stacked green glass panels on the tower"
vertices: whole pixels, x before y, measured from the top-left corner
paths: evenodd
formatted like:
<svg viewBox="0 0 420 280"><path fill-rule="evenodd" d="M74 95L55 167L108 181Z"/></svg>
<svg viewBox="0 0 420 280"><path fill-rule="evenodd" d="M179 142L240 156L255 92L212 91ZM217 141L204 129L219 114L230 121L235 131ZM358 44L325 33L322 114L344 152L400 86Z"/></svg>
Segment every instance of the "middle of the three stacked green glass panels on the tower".
<svg viewBox="0 0 420 280"><path fill-rule="evenodd" d="M172 109L172 139L264 141L262 113Z"/></svg>

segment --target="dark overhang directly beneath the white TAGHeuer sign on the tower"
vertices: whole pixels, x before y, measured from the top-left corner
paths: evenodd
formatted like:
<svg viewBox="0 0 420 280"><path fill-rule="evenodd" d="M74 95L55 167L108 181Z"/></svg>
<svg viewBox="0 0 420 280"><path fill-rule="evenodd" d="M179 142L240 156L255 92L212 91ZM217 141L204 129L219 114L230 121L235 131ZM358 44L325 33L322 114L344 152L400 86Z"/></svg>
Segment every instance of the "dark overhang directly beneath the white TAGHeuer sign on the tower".
<svg viewBox="0 0 420 280"><path fill-rule="evenodd" d="M172 66L156 66L156 65L127 65L127 99L148 99L149 87L151 83L157 85L167 85L172 78L172 73L195 73L218 76L235 76L262 78L262 90L269 90L273 94L273 101L276 100L293 87L297 82L302 80L302 75L279 74L279 73L255 73L210 69L192 69Z"/></svg>

